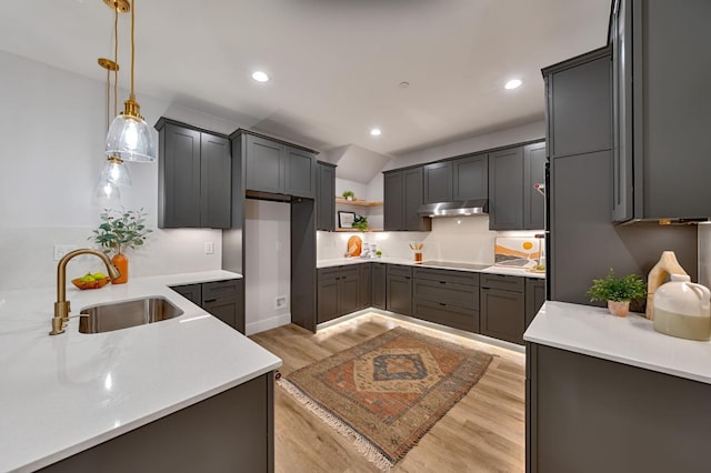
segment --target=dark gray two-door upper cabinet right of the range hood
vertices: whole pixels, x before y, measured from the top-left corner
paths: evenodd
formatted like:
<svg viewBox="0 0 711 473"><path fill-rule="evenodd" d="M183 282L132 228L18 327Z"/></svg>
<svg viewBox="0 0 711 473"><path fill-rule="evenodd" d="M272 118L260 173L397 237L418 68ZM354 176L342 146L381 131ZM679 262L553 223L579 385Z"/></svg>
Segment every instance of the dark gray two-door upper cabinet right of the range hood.
<svg viewBox="0 0 711 473"><path fill-rule="evenodd" d="M542 230L544 199L534 184L545 180L545 143L489 153L489 229Z"/></svg>

